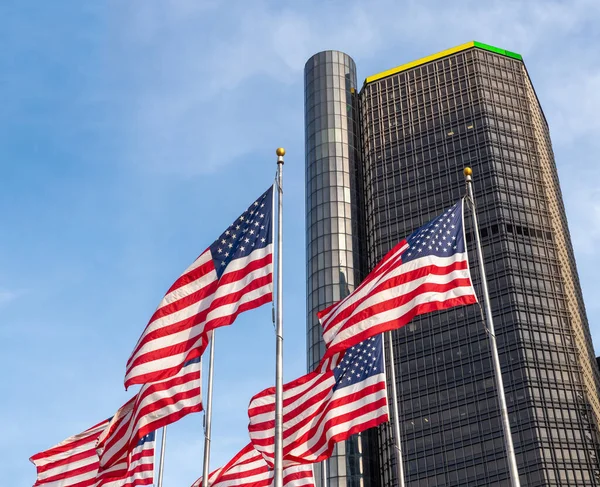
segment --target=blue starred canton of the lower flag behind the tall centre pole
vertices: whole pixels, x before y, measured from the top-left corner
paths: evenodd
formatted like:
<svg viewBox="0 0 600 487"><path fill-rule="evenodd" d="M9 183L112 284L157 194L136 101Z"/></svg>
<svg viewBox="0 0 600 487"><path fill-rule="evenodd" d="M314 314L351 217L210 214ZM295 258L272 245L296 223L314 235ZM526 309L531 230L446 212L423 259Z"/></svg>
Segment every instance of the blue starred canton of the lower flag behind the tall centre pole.
<svg viewBox="0 0 600 487"><path fill-rule="evenodd" d="M381 335L376 335L346 350L333 371L336 382L333 390L351 386L383 371Z"/></svg>

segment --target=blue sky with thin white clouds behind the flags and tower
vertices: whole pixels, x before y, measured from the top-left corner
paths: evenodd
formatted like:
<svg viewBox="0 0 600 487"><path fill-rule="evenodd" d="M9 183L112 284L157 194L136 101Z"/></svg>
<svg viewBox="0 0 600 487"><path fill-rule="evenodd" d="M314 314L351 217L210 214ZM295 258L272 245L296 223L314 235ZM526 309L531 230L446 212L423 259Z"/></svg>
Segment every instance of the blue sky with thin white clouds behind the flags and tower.
<svg viewBox="0 0 600 487"><path fill-rule="evenodd" d="M600 2L0 3L0 478L111 416L171 283L284 168L284 378L305 371L303 68L371 74L471 40L523 55L548 119L600 350ZM274 382L271 309L215 341L213 467ZM599 352L600 354L600 352ZM165 487L202 471L203 414L169 427Z"/></svg>

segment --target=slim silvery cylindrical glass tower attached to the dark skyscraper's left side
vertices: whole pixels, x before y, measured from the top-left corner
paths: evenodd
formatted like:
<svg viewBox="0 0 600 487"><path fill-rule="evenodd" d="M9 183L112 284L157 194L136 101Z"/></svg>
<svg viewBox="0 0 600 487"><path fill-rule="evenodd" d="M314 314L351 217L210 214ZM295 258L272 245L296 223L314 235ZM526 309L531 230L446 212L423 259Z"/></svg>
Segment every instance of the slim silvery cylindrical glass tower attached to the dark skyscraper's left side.
<svg viewBox="0 0 600 487"><path fill-rule="evenodd" d="M304 87L307 365L313 370L325 351L317 311L361 278L356 65L342 52L315 54L304 68ZM360 438L338 444L328 468L332 486L365 485Z"/></svg>

